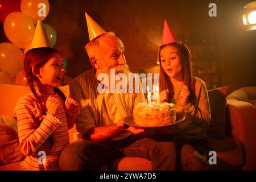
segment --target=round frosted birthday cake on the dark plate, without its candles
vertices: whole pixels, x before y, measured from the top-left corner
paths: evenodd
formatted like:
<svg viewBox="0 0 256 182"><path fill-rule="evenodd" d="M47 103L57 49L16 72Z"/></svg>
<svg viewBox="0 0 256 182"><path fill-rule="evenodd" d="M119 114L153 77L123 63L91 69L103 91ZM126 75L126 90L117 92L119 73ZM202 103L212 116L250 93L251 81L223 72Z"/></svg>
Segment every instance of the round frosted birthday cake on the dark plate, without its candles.
<svg viewBox="0 0 256 182"><path fill-rule="evenodd" d="M136 125L143 127L171 125L176 121L175 105L142 102L134 107L133 119Z"/></svg>

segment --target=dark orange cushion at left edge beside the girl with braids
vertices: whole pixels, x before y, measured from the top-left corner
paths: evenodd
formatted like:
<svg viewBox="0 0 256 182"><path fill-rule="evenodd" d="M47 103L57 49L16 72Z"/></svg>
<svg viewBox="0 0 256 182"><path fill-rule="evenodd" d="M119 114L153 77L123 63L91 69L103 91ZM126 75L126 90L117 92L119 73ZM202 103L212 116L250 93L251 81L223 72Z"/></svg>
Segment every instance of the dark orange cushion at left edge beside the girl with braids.
<svg viewBox="0 0 256 182"><path fill-rule="evenodd" d="M25 158L19 150L16 123L13 116L0 116L0 165L19 162Z"/></svg>

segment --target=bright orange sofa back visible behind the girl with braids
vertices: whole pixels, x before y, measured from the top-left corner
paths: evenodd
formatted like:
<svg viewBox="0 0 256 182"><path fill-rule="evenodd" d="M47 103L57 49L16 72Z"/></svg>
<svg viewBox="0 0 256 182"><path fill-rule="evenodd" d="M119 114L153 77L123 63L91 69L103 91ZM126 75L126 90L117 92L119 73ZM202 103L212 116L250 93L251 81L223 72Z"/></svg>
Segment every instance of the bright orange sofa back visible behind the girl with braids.
<svg viewBox="0 0 256 182"><path fill-rule="evenodd" d="M60 86L64 95L69 96L68 85ZM14 107L19 98L26 96L31 90L28 86L0 84L0 115L14 115ZM69 130L69 140L73 142L76 138L76 126Z"/></svg>

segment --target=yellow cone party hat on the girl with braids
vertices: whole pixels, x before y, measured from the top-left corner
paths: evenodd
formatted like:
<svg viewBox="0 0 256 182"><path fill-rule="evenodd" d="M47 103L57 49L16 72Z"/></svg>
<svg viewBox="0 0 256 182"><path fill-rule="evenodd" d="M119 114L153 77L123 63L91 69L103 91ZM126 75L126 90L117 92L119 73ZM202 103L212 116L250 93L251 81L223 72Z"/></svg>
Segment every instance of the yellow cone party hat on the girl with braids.
<svg viewBox="0 0 256 182"><path fill-rule="evenodd" d="M30 47L26 50L26 52L29 49L38 47L52 47L40 20L38 20L38 23L36 23L34 37L32 39Z"/></svg>

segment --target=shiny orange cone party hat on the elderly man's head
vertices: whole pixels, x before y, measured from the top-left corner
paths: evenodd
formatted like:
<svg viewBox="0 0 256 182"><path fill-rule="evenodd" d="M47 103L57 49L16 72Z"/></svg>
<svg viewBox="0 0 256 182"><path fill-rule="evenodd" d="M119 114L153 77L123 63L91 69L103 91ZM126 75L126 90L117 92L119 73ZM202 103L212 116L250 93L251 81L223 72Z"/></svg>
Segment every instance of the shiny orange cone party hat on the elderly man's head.
<svg viewBox="0 0 256 182"><path fill-rule="evenodd" d="M90 16L86 12L85 12L85 18L86 18L90 41L106 32L92 18L90 18Z"/></svg>

